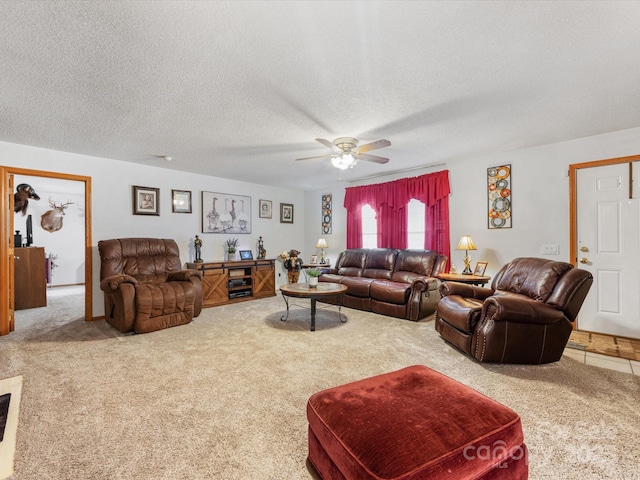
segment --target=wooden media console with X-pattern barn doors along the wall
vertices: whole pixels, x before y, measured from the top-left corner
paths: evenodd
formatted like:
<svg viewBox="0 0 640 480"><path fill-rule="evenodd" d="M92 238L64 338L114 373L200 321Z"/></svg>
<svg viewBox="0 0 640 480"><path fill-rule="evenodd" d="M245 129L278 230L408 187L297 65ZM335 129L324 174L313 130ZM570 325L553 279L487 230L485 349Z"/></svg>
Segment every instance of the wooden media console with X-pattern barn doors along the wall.
<svg viewBox="0 0 640 480"><path fill-rule="evenodd" d="M276 294L275 260L187 263L202 272L203 306L215 307Z"/></svg>

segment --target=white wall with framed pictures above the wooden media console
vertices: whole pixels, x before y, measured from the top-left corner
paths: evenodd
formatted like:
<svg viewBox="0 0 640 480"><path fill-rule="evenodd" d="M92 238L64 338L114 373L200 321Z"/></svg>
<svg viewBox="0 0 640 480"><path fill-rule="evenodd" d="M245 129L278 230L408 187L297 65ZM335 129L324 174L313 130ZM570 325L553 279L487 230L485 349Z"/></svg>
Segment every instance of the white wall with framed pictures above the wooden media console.
<svg viewBox="0 0 640 480"><path fill-rule="evenodd" d="M174 163L179 159L174 159ZM263 237L267 258L275 258L283 250L304 244L304 192L291 188L237 182L217 177L179 172L117 160L77 155L42 148L0 142L0 164L20 168L83 175L92 178L92 237L93 237L93 316L104 314L100 290L99 240L124 237L173 238L180 248L183 263L194 258L193 238L202 238L202 258L205 261L224 258L224 241L230 236L240 239L240 249L252 250L256 256L257 240ZM132 186L160 189L160 216L132 214ZM191 190L193 213L171 212L171 190ZM202 234L201 192L221 192L251 197L251 234ZM258 218L258 200L273 202L273 218ZM280 223L280 203L292 203L294 224ZM34 222L36 218L34 217ZM39 221L39 219L38 219ZM67 225L63 227L63 230ZM68 248L59 249L60 256L69 255ZM277 262L278 285L286 283L281 262Z"/></svg>

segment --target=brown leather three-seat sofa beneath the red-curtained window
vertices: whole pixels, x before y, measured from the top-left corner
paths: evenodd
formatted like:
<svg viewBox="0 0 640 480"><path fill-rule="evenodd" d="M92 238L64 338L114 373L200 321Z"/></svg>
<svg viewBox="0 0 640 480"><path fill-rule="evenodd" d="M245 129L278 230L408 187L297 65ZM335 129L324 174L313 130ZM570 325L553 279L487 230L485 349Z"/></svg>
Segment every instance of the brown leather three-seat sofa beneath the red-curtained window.
<svg viewBox="0 0 640 480"><path fill-rule="evenodd" d="M440 299L435 277L446 264L446 256L431 250L350 249L319 280L346 285L346 307L418 321L435 312Z"/></svg>

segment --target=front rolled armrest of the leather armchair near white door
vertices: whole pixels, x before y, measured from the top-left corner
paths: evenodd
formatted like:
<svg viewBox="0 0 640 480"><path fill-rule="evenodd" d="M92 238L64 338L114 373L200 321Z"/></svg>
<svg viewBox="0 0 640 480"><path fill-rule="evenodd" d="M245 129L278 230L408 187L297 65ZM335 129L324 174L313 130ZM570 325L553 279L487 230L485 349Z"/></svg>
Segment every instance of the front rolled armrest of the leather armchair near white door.
<svg viewBox="0 0 640 480"><path fill-rule="evenodd" d="M496 322L534 323L549 325L566 319L564 312L546 303L514 297L490 297L482 307L482 317ZM569 321L569 320L567 320Z"/></svg>

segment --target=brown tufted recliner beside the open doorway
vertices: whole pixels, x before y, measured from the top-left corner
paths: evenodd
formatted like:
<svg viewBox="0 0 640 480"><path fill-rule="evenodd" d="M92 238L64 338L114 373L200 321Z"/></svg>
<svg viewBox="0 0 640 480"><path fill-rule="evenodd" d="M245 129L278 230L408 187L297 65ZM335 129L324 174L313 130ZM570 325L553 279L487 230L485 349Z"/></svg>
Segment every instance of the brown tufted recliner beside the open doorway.
<svg viewBox="0 0 640 480"><path fill-rule="evenodd" d="M174 240L101 240L98 250L105 319L117 330L153 332L200 315L201 273L182 269Z"/></svg>

